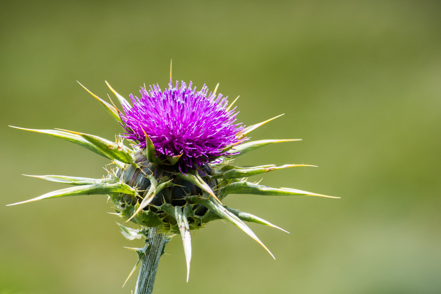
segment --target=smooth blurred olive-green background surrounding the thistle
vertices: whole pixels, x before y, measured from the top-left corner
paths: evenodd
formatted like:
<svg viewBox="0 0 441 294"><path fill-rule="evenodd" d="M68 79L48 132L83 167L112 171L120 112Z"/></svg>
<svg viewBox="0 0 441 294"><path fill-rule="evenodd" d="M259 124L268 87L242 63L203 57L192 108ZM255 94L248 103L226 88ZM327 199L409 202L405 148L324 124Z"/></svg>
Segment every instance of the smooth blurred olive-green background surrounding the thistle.
<svg viewBox="0 0 441 294"><path fill-rule="evenodd" d="M21 174L101 177L107 160L7 127L113 139L101 98L173 79L241 98L239 120L285 116L253 139L301 138L241 165L305 163L262 183L341 199L238 196L224 203L291 234L230 223L196 232L189 283L181 241L154 293L440 293L440 1L9 1L0 12L0 293L130 293L140 246L106 196L25 200L65 186ZM256 178L258 180L259 178Z"/></svg>

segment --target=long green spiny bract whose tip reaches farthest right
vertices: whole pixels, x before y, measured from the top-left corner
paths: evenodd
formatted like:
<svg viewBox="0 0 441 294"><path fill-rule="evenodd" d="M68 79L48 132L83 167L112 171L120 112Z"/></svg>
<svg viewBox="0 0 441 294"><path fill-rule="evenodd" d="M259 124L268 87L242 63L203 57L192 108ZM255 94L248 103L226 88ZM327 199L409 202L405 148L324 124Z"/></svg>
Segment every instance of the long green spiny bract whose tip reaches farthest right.
<svg viewBox="0 0 441 294"><path fill-rule="evenodd" d="M288 196L288 195L304 195L304 196L320 196L328 198L340 198L333 196L326 196L306 191L301 191L291 188L272 188L268 186L259 185L256 183L250 183L247 181L238 181L228 184L221 188L222 194L255 194L255 195L268 195L268 196Z"/></svg>

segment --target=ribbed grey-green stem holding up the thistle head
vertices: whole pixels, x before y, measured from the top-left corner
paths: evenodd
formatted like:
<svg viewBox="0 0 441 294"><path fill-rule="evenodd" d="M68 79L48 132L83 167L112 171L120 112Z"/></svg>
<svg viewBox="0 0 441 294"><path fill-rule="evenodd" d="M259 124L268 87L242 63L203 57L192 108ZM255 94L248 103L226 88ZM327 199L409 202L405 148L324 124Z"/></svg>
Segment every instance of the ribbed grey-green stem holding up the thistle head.
<svg viewBox="0 0 441 294"><path fill-rule="evenodd" d="M166 243L165 235L160 230L151 228L147 238L146 256L141 262L138 281L136 282L135 294L151 294L155 282L156 270L159 259L164 252Z"/></svg>

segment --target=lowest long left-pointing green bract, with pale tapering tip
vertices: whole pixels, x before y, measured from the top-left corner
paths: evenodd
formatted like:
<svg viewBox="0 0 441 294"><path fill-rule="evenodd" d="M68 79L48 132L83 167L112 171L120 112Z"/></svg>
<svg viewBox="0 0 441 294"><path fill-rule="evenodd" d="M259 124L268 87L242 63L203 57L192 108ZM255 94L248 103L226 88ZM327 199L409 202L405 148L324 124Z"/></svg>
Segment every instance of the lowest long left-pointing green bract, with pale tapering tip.
<svg viewBox="0 0 441 294"><path fill-rule="evenodd" d="M68 197L68 196L77 196L77 195L106 195L106 194L120 194L120 193L137 195L136 189L130 187L127 184L124 184L123 182L112 183L112 184L109 184L107 182L101 182L92 185L82 185L82 186L76 186L57 191L52 191L42 196L38 196L29 200L25 200L13 204L8 204L6 206L23 204L27 202L49 199L49 198Z"/></svg>

